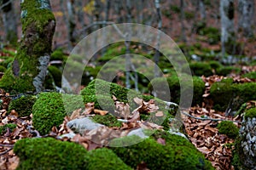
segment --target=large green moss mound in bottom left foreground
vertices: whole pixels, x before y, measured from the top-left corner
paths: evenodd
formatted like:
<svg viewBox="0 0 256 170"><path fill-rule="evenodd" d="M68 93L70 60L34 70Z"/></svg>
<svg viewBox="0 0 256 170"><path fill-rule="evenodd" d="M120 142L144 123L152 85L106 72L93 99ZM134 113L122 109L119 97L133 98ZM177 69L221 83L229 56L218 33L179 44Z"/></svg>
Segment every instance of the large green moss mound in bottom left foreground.
<svg viewBox="0 0 256 170"><path fill-rule="evenodd" d="M84 169L83 146L52 138L20 139L15 143L20 162L17 169Z"/></svg>

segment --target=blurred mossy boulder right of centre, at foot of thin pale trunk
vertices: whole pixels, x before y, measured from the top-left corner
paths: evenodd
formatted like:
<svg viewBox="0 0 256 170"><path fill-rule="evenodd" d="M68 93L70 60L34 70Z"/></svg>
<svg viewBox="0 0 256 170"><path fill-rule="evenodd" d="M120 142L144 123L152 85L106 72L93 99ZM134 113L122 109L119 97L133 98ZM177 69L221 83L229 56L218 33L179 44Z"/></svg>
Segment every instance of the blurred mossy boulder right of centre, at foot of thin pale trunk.
<svg viewBox="0 0 256 170"><path fill-rule="evenodd" d="M154 78L148 84L148 88L151 92L154 90L153 87L161 89L162 84L164 84L167 81L170 89L171 101L179 104L181 93L188 94L186 91L189 88L192 88L189 82L185 81L186 77L183 77L183 78L184 78L183 92L181 92L179 77L177 77L176 75L173 75L172 77L167 77L167 78L166 77ZM201 105L202 95L204 94L204 91L205 91L205 83L202 81L201 77L192 77L192 79L193 79L193 94L188 94L188 95L193 95L192 105ZM160 99L162 99L161 94L166 94L166 92L164 91L156 92L156 93Z"/></svg>

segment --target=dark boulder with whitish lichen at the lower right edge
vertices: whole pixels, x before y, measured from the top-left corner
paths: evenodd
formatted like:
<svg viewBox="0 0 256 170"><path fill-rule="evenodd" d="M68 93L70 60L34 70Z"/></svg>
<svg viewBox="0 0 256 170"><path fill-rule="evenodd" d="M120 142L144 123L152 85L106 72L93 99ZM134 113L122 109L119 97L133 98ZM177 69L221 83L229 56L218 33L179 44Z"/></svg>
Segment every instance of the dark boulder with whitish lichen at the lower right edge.
<svg viewBox="0 0 256 170"><path fill-rule="evenodd" d="M256 108L246 111L239 136L236 139L236 150L233 152L233 165L239 170L251 170L256 167Z"/></svg>

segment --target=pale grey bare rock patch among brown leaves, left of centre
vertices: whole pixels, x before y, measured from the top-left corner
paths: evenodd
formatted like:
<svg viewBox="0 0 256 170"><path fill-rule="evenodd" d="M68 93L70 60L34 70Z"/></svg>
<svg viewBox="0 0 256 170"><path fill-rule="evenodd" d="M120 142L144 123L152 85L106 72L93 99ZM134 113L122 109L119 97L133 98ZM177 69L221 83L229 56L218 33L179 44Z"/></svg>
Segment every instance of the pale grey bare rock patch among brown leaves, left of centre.
<svg viewBox="0 0 256 170"><path fill-rule="evenodd" d="M92 130L97 127L103 127L104 125L100 123L93 122L90 117L84 117L80 119L74 119L67 122L67 127L71 128L75 132L84 133L85 130Z"/></svg>

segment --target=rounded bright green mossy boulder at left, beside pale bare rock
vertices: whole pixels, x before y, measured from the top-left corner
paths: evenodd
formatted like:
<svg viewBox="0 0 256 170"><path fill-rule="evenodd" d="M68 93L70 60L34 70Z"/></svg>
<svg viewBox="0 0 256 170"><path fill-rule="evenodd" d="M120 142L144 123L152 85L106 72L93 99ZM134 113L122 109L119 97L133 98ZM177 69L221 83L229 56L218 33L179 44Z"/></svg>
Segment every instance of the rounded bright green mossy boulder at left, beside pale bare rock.
<svg viewBox="0 0 256 170"><path fill-rule="evenodd" d="M32 124L39 133L49 133L51 127L58 127L65 116L70 116L79 108L84 108L80 95L41 93L32 107Z"/></svg>

